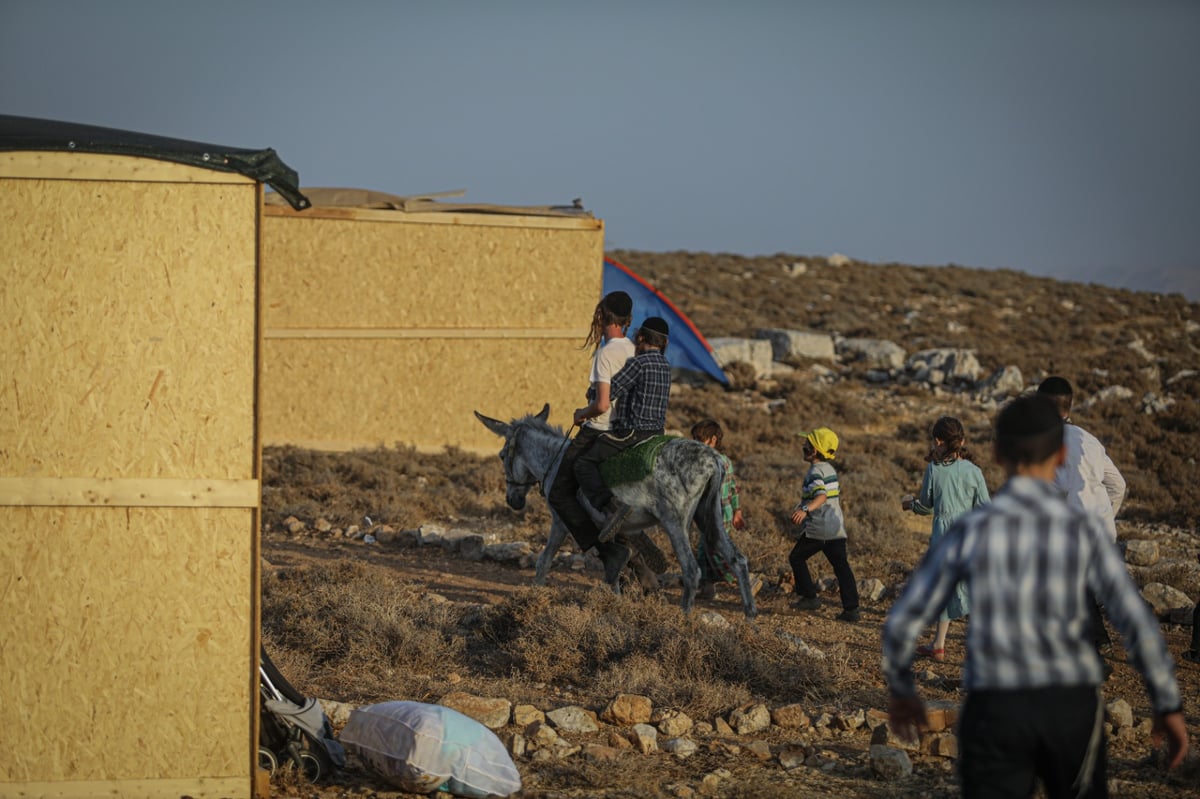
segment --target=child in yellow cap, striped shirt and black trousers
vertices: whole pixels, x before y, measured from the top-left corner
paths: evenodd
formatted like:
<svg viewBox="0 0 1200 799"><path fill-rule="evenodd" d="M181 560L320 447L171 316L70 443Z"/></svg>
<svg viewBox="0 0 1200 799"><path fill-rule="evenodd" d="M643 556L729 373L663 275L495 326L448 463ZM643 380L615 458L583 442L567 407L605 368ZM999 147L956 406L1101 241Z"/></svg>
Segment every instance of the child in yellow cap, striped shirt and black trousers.
<svg viewBox="0 0 1200 799"><path fill-rule="evenodd" d="M841 621L858 621L858 583L846 558L846 522L841 513L841 487L838 471L829 463L838 453L838 434L828 427L800 433L804 459L811 465L804 475L800 501L792 509L792 522L800 525L799 539L787 561L796 577L797 599L792 607L816 611L821 607L817 587L809 573L808 560L818 552L833 566L841 594Z"/></svg>

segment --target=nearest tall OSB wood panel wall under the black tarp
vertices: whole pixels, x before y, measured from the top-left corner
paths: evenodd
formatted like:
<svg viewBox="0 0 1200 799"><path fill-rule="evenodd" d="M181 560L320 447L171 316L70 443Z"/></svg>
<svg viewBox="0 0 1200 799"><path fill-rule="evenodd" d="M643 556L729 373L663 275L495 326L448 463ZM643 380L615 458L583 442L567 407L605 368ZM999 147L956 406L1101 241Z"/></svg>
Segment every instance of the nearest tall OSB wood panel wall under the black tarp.
<svg viewBox="0 0 1200 799"><path fill-rule="evenodd" d="M2 155L0 795L250 795L260 190Z"/></svg>

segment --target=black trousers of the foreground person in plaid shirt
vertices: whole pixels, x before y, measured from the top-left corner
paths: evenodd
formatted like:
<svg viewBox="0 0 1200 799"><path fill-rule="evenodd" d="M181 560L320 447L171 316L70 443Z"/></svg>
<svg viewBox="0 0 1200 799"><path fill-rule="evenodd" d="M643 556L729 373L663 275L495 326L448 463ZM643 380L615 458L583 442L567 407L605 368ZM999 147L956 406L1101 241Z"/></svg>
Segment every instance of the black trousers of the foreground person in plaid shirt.
<svg viewBox="0 0 1200 799"><path fill-rule="evenodd" d="M1103 705L1094 685L972 691L959 720L966 799L1109 795Z"/></svg>

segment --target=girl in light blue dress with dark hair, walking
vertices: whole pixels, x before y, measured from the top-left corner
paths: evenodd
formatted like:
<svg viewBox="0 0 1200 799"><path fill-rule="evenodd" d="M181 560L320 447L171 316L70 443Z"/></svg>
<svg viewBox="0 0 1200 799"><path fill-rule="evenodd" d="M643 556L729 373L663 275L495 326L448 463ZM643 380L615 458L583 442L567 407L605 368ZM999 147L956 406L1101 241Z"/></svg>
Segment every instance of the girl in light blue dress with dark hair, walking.
<svg viewBox="0 0 1200 799"><path fill-rule="evenodd" d="M950 529L954 519L972 507L991 501L991 497L988 494L983 471L971 459L971 452L966 447L962 422L954 416L942 416L934 423L930 435L934 445L925 457L929 465L925 467L920 494L905 497L900 506L920 516L934 517L934 531L929 536L929 548L932 549ZM937 661L946 660L946 633L950 629L950 619L961 619L970 612L971 600L966 583L959 583L937 620L932 645L917 647L917 654Z"/></svg>

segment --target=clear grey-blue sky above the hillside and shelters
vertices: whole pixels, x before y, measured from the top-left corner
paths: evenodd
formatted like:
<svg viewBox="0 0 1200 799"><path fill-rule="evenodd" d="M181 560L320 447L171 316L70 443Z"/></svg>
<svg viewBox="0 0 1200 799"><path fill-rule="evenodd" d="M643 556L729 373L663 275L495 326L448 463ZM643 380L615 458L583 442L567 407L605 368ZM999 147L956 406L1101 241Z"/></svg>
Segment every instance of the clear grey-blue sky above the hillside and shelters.
<svg viewBox="0 0 1200 799"><path fill-rule="evenodd" d="M0 0L0 113L582 198L606 250L1200 301L1198 42L1195 0Z"/></svg>

